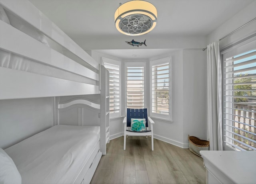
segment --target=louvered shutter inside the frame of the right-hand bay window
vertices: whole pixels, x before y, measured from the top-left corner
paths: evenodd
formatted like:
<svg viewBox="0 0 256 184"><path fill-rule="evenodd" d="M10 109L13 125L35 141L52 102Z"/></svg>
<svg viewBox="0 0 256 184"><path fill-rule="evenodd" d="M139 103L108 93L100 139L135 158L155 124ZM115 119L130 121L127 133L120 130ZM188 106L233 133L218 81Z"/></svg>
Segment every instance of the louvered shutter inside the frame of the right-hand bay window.
<svg viewBox="0 0 256 184"><path fill-rule="evenodd" d="M152 65L152 113L169 115L169 63Z"/></svg>

